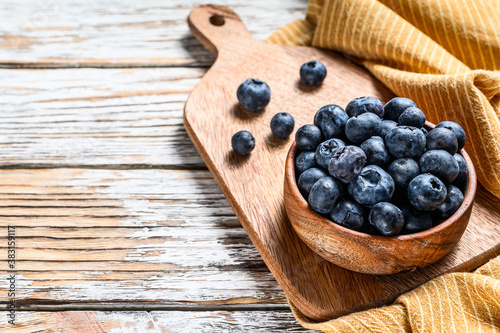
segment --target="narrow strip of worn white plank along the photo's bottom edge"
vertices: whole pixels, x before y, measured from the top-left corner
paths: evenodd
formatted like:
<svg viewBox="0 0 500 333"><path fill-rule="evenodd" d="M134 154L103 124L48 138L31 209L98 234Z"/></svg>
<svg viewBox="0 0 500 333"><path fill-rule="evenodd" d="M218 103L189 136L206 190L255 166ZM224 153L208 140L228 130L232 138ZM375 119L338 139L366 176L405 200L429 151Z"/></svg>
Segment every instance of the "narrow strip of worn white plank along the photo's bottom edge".
<svg viewBox="0 0 500 333"><path fill-rule="evenodd" d="M12 333L317 332L302 328L290 311L18 312L18 324L0 317Z"/></svg>

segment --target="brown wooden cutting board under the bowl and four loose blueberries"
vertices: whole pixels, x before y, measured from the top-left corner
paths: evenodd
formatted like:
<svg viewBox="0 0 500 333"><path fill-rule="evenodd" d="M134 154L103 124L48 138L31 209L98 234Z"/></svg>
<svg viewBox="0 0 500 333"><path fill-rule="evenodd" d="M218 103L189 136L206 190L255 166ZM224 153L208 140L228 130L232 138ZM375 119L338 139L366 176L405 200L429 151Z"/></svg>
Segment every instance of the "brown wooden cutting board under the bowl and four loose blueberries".
<svg viewBox="0 0 500 333"><path fill-rule="evenodd" d="M500 200L479 187L462 240L430 267L396 275L365 275L316 255L293 231L283 204L285 157L294 134L276 139L270 120L286 111L295 117L297 129L312 123L323 105L345 107L359 96L386 102L393 93L336 53L255 40L227 7L198 7L188 23L217 60L186 102L186 130L270 271L305 315L326 320L388 304L433 277L472 270L500 254ZM304 87L299 80L300 66L312 59L328 69L318 88ZM236 99L238 85L252 77L271 88L271 102L259 113L241 109ZM249 156L238 156L231 149L231 136L240 130L255 137L256 147Z"/></svg>

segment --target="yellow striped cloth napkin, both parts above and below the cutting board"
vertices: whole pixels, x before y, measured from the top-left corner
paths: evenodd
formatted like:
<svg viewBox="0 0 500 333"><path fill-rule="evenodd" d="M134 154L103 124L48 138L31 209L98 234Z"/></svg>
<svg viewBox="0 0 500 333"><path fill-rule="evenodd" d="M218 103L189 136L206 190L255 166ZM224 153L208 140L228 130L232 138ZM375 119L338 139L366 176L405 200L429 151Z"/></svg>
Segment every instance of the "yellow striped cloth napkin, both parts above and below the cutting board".
<svg viewBox="0 0 500 333"><path fill-rule="evenodd" d="M357 58L433 123L464 127L481 184L500 197L500 0L310 0L268 42ZM500 332L500 257L438 277L393 305L304 327L325 332Z"/></svg>

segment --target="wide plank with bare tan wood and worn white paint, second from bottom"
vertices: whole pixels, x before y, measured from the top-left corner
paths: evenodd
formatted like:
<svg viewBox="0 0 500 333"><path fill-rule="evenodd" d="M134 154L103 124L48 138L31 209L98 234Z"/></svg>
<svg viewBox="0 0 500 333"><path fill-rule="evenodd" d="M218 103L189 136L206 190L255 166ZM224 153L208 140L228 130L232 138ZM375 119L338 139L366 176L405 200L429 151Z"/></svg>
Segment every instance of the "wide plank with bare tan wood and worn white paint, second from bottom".
<svg viewBox="0 0 500 333"><path fill-rule="evenodd" d="M16 228L23 309L287 307L208 171L1 170L0 219Z"/></svg>

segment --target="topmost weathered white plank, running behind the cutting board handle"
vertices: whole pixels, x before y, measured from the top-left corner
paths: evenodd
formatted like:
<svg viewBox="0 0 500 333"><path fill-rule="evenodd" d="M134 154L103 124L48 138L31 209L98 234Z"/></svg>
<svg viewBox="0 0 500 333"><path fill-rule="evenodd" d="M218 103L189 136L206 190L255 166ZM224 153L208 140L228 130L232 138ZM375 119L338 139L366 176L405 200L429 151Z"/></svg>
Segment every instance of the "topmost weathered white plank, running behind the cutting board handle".
<svg viewBox="0 0 500 333"><path fill-rule="evenodd" d="M0 11L0 66L209 66L214 57L191 35L186 18L203 0L7 1ZM267 38L302 19L306 0L219 0Z"/></svg>

